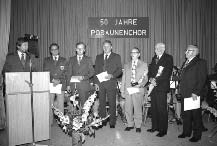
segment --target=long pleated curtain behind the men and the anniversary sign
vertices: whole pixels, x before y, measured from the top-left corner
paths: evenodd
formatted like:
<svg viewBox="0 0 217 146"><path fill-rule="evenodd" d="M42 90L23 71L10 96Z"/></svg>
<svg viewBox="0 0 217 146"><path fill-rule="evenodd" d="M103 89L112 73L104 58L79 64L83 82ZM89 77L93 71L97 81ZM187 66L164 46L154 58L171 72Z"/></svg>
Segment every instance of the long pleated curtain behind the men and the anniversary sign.
<svg viewBox="0 0 217 146"><path fill-rule="evenodd" d="M68 58L74 55L75 44L83 41L87 44L87 55L95 60L102 52L104 39L88 38L88 17L149 17L150 38L110 39L113 51L122 57L122 64L129 60L129 51L134 46L142 50L141 59L150 63L157 42L165 42L176 66L184 61L189 44L198 45L209 72L217 60L216 0L12 0L11 3L9 52L15 50L17 37L25 33L38 35L40 68L53 42L60 45L61 55Z"/></svg>

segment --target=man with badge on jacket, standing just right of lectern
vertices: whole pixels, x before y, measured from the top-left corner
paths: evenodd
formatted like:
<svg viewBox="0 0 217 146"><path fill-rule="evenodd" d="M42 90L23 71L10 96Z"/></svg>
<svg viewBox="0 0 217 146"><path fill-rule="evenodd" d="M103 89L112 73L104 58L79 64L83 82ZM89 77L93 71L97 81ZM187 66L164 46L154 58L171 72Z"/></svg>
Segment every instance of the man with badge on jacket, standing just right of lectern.
<svg viewBox="0 0 217 146"><path fill-rule="evenodd" d="M61 94L50 93L51 105L54 104L64 113L64 91L66 90L66 65L67 60L60 56L59 45L52 43L49 47L50 57L44 59L43 71L50 72L50 82L53 86L62 84ZM56 99L55 99L56 97ZM50 122L53 124L53 113L50 112Z"/></svg>

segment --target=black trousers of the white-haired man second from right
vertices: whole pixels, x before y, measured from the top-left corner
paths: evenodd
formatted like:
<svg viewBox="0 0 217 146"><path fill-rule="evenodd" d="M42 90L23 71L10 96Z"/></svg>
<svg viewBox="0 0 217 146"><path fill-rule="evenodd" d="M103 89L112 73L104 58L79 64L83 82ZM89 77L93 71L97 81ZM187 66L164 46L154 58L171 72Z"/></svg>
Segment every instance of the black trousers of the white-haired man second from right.
<svg viewBox="0 0 217 146"><path fill-rule="evenodd" d="M167 133L168 112L167 112L167 93L162 91L153 91L151 93L151 113L152 129Z"/></svg>

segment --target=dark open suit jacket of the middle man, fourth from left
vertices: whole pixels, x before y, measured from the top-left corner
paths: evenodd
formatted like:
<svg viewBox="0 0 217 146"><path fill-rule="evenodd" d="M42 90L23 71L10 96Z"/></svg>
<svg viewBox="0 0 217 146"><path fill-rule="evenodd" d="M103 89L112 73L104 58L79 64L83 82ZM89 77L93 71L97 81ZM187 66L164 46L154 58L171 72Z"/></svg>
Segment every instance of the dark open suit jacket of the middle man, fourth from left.
<svg viewBox="0 0 217 146"><path fill-rule="evenodd" d="M99 74L104 72L104 54L100 54L96 56L95 60L95 74ZM120 55L111 52L106 66L105 70L108 72L108 74L112 74L113 78L110 79L109 81L106 81L107 83L116 83L116 78L119 77L122 74L122 65L121 65L121 57ZM94 82L96 84L99 84L99 80L97 77L94 77Z"/></svg>

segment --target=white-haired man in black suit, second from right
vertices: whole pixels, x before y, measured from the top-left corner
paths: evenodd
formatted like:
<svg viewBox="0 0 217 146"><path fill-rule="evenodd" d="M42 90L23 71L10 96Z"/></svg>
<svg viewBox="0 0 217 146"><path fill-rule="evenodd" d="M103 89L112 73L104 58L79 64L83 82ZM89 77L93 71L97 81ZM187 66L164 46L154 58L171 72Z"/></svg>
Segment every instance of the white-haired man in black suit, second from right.
<svg viewBox="0 0 217 146"><path fill-rule="evenodd" d="M158 74L159 68L163 68L161 74ZM173 57L165 53L165 44L157 43L155 45L155 55L149 65L148 77L154 89L150 93L152 128L148 132L159 131L156 135L163 137L168 129L167 112L167 93L170 89L170 76L173 70ZM156 77L158 76L158 77Z"/></svg>

